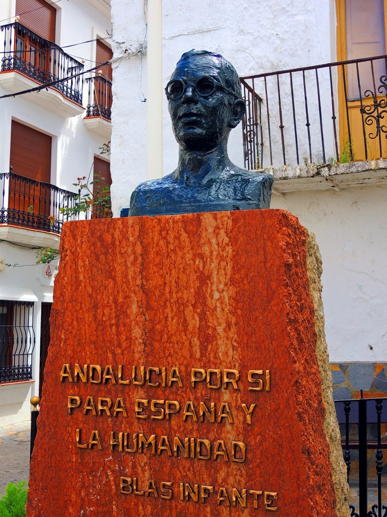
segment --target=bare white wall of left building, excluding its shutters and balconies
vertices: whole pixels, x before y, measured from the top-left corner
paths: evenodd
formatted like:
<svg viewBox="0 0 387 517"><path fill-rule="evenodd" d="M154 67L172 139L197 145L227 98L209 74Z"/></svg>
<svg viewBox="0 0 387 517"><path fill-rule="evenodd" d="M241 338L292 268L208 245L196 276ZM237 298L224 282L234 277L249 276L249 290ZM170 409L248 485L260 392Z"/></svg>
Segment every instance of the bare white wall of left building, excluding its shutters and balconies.
<svg viewBox="0 0 387 517"><path fill-rule="evenodd" d="M66 47L73 43L93 40L96 37L106 37L111 33L111 22L108 4L104 0L76 0L76 2L61 2L55 4L57 9L56 43ZM12 23L15 16L15 0L0 2L0 25ZM11 18L7 20L8 18ZM1 33L4 35L4 33ZM4 40L4 38L3 38ZM109 45L109 40L106 41ZM63 49L78 61L85 59L84 69L95 66L96 42L91 41L75 47ZM1 49L2 50L2 49ZM91 77L92 74L85 75ZM1 86L0 96L8 94ZM54 113L48 106L35 103L39 93L0 99L0 172L8 172L10 159L11 121L18 120L39 131L50 134L53 138L51 183L65 190L76 191L73 183L77 177L88 176L92 168L94 156L100 153L100 147L109 138L89 131L84 123L85 112L77 116L66 117ZM84 83L83 105L88 102L88 85ZM92 180L92 172L90 180ZM3 185L2 185L3 188ZM24 233L26 231L24 230ZM37 241L39 232L30 231L30 245L44 246ZM0 386L0 426L29 418L31 406L29 399L38 394L39 389L39 354L40 354L40 314L41 303L52 302L53 281L44 275L46 266L34 265L37 261L36 251L26 248L28 238L23 237L24 247L15 242L0 242L0 258L8 264L23 265L23 267L6 267L0 271L0 287L4 292L32 293L35 302L35 350L33 358L34 383ZM39 239L38 239L39 240ZM52 245L51 245L52 246ZM33 264L33 265L31 265ZM56 264L51 264L52 270ZM0 296L1 297L1 296ZM4 299L7 299L6 297Z"/></svg>

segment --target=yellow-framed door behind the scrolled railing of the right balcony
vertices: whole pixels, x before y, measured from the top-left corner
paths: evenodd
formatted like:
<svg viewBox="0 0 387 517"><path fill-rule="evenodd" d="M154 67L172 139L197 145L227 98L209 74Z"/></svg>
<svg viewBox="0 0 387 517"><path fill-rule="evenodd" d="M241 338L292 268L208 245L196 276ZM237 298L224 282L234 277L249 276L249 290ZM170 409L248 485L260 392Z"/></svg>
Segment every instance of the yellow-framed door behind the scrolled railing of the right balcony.
<svg viewBox="0 0 387 517"><path fill-rule="evenodd" d="M385 55L386 7L387 0L336 0L339 61ZM342 161L387 157L383 132L387 113L382 113L387 100L386 63L382 57L338 67Z"/></svg>

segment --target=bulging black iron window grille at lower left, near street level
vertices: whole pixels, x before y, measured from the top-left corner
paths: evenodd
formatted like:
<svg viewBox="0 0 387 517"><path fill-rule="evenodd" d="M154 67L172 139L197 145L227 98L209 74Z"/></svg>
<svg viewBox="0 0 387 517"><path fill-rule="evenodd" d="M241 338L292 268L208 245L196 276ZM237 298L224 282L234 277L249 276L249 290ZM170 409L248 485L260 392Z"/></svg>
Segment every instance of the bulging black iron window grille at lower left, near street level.
<svg viewBox="0 0 387 517"><path fill-rule="evenodd" d="M32 379L34 302L0 300L0 383Z"/></svg>

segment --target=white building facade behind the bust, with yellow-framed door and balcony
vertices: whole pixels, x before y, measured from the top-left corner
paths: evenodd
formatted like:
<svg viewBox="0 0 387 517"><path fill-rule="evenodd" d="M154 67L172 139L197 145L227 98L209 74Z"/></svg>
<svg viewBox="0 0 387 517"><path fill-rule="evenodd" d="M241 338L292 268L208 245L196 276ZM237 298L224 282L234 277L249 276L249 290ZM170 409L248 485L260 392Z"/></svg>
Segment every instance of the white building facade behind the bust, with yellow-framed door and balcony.
<svg viewBox="0 0 387 517"><path fill-rule="evenodd" d="M222 54L245 78L248 101L245 127L231 133L231 160L271 172L271 207L291 211L316 234L336 399L387 392L385 4L168 0L160 10L156 0L111 1L115 55L143 49L114 70L115 215L155 176L150 157L164 175L178 162L160 85L184 52ZM383 57L365 59L375 56Z"/></svg>

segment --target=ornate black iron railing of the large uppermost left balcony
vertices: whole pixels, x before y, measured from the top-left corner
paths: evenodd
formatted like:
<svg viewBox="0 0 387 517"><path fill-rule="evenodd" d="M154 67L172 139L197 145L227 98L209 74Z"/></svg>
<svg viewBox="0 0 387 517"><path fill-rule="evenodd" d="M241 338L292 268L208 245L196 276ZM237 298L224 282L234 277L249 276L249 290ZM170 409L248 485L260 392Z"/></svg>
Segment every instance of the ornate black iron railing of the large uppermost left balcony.
<svg viewBox="0 0 387 517"><path fill-rule="evenodd" d="M82 105L84 66L55 43L47 41L19 22L2 25L4 52L1 71L18 70L42 84L59 82L53 87L65 97Z"/></svg>

